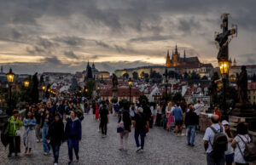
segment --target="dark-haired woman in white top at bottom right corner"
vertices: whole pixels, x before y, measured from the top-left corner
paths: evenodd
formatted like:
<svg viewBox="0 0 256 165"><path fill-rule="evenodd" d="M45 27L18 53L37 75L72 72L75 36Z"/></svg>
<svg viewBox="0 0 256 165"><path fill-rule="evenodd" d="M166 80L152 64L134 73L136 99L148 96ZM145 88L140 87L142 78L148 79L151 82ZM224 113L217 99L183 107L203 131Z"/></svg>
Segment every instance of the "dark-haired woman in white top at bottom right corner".
<svg viewBox="0 0 256 165"><path fill-rule="evenodd" d="M236 165L248 165L249 162L247 162L244 159L244 151L246 149L246 143L251 142L251 138L248 134L247 126L240 122L237 124L236 127L236 137L233 139L231 146L235 149L235 162Z"/></svg>

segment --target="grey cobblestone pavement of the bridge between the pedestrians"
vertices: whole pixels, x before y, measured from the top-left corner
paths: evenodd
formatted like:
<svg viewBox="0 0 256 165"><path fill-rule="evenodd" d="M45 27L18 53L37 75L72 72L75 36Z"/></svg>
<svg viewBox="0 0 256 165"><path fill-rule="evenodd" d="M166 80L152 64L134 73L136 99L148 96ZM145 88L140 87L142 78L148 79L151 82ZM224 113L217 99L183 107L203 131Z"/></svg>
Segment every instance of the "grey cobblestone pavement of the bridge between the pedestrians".
<svg viewBox="0 0 256 165"><path fill-rule="evenodd" d="M73 164L206 164L206 154L202 145L202 134L195 137L195 147L186 145L186 137L176 137L163 128L152 128L145 139L143 153L136 153L133 131L129 135L128 151L119 151L119 134L116 133L117 118L110 117L108 136L102 138L97 131L98 122L92 115L84 115L83 138L80 143L79 162ZM53 164L52 153L44 156L43 144L36 143L30 155L24 154L21 142L19 157L7 157L8 148L0 145L0 164ZM67 164L67 143L61 145L59 164Z"/></svg>

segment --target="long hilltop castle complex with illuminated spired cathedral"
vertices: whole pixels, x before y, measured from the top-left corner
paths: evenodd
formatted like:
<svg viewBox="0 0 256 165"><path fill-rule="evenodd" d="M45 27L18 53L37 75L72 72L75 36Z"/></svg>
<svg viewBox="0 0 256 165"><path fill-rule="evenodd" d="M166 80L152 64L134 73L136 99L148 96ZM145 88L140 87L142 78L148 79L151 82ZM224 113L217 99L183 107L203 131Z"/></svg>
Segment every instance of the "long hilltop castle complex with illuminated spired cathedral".
<svg viewBox="0 0 256 165"><path fill-rule="evenodd" d="M163 75L166 71L166 67L168 71L176 71L179 74L184 74L187 72L188 74L195 71L201 77L207 76L212 77L213 74L213 66L212 64L203 64L200 62L198 57L187 57L186 52L184 50L183 57L180 56L179 52L177 51L177 45L175 47L174 53L172 52L172 59L169 54L169 50L166 54L166 65L147 65L147 66L140 66L137 68L127 68L123 70L116 70L114 71L117 77L122 77L125 73L129 74L129 77L133 76L133 72L137 72L138 76L140 77L141 73L148 73L150 71L156 71Z"/></svg>

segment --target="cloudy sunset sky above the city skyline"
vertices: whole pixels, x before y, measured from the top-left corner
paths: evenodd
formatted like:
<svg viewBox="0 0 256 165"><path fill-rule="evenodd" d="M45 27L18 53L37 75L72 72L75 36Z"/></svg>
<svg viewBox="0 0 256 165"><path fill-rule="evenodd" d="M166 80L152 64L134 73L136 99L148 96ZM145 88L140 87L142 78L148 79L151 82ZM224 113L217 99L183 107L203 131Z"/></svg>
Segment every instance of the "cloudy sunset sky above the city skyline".
<svg viewBox="0 0 256 165"><path fill-rule="evenodd" d="M217 65L214 31L230 14L230 57L256 64L255 0L0 0L0 65L17 73L163 65L183 54ZM253 16L254 15L254 16Z"/></svg>

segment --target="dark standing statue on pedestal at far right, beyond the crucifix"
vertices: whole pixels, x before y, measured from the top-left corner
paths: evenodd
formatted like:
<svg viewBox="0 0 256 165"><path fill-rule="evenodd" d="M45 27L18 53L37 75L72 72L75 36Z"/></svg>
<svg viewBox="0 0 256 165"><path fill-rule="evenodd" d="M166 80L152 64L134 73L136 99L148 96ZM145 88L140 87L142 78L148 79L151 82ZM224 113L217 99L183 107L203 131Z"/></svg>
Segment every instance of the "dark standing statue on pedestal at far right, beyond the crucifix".
<svg viewBox="0 0 256 165"><path fill-rule="evenodd" d="M237 96L241 105L247 105L249 103L247 97L247 68L245 65L241 66L241 73L237 77Z"/></svg>

